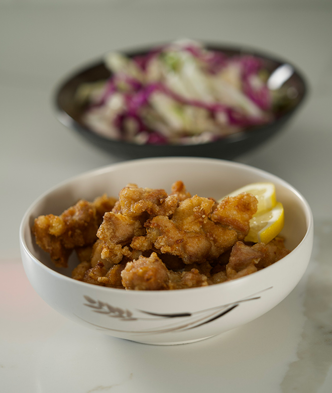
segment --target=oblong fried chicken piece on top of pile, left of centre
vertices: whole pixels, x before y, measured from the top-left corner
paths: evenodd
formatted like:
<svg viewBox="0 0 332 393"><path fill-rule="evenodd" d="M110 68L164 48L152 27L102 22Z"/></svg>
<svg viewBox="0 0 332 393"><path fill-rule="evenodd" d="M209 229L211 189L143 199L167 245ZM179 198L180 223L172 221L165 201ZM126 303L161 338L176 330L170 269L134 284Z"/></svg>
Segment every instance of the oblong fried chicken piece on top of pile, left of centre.
<svg viewBox="0 0 332 393"><path fill-rule="evenodd" d="M128 185L119 193L121 213L128 217L138 217L147 212L149 216L173 214L177 207L176 195L168 195L165 190L138 188Z"/></svg>

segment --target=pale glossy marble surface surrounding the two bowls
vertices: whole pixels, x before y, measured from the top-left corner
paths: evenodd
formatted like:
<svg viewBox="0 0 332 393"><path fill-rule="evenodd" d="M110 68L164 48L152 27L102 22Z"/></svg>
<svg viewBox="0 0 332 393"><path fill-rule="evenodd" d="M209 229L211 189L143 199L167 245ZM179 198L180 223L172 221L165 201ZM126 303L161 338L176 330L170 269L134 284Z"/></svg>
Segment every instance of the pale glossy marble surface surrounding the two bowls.
<svg viewBox="0 0 332 393"><path fill-rule="evenodd" d="M18 227L41 193L115 162L55 119L58 81L109 50L182 37L267 50L306 75L294 120L237 161L307 198L315 244L299 285L267 314L158 347L96 334L50 308L24 274ZM331 38L331 1L0 1L1 392L332 392Z"/></svg>

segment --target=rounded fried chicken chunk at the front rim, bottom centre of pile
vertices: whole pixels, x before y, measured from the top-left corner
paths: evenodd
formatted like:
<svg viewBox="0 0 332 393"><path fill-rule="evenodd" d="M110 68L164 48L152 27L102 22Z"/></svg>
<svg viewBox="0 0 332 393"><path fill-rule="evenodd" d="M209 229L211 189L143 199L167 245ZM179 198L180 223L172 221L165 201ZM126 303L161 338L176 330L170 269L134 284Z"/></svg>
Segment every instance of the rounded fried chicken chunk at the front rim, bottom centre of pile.
<svg viewBox="0 0 332 393"><path fill-rule="evenodd" d="M168 269L156 253L128 262L121 272L122 285L128 290L158 291L168 288Z"/></svg>

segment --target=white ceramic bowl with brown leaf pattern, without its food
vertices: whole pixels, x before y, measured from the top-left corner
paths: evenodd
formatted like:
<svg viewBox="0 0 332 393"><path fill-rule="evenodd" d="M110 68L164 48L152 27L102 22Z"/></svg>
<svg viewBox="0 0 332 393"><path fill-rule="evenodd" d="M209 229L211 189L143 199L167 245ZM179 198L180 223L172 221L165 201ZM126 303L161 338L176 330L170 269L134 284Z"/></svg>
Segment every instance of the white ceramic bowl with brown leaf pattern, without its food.
<svg viewBox="0 0 332 393"><path fill-rule="evenodd" d="M215 198L248 183L273 182L277 199L285 208L282 234L292 252L249 276L209 287L125 291L71 279L73 265L69 269L55 268L31 235L36 216L60 214L80 198L92 200L104 193L116 197L128 183L170 191L177 180L182 180L192 195ZM64 316L115 337L149 344L180 344L247 323L282 301L308 266L313 218L307 201L288 183L267 172L209 158L150 158L88 172L44 194L22 219L20 246L24 269L33 288Z"/></svg>

